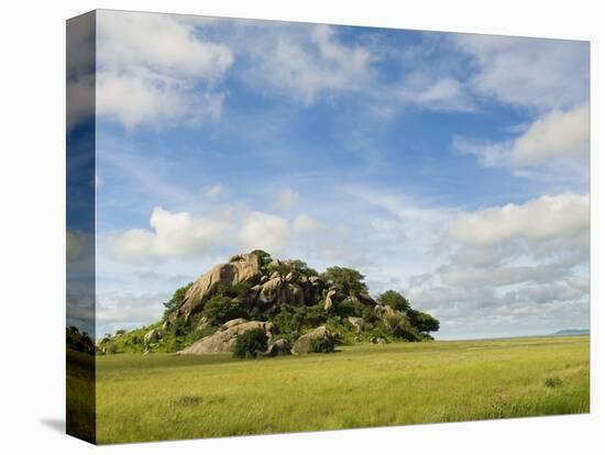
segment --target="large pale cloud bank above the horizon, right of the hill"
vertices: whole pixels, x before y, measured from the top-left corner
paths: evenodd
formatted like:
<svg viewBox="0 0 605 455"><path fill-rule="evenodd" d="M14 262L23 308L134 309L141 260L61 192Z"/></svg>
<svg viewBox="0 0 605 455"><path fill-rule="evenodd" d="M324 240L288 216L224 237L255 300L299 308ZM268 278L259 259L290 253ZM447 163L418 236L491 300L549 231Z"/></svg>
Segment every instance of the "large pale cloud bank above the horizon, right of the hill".
<svg viewBox="0 0 605 455"><path fill-rule="evenodd" d="M449 251L444 264L410 277L405 293L446 331L587 324L588 195L459 213L438 245Z"/></svg>

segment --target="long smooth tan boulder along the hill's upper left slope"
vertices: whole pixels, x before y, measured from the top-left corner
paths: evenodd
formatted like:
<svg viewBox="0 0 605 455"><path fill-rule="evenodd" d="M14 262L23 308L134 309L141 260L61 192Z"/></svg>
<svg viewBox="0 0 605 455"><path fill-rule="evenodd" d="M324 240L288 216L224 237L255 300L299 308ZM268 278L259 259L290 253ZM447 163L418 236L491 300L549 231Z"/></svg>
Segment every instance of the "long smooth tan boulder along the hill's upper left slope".
<svg viewBox="0 0 605 455"><path fill-rule="evenodd" d="M233 286L242 281L255 284L261 275L261 259L255 254L241 254L227 264L219 264L199 277L189 288L179 306L178 315L184 314L188 318L191 313L200 311L221 285Z"/></svg>

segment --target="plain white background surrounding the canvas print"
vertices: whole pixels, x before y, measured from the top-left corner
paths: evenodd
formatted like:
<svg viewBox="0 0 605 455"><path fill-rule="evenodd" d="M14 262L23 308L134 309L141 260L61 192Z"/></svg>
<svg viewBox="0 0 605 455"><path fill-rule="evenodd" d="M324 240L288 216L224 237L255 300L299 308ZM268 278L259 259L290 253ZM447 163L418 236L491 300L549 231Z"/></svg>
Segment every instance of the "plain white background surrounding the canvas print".
<svg viewBox="0 0 605 455"><path fill-rule="evenodd" d="M407 3L407 4L406 4ZM605 447L604 13L598 1L3 2L0 12L0 452L87 454L602 453ZM63 434L65 408L65 20L95 8L590 40L592 52L592 413L133 444L95 448ZM600 85L601 82L601 85ZM598 129L601 125L601 130ZM601 276L601 281L598 277ZM601 357L601 358L600 358ZM388 390L385 390L388 393ZM150 410L153 412L153 409Z"/></svg>

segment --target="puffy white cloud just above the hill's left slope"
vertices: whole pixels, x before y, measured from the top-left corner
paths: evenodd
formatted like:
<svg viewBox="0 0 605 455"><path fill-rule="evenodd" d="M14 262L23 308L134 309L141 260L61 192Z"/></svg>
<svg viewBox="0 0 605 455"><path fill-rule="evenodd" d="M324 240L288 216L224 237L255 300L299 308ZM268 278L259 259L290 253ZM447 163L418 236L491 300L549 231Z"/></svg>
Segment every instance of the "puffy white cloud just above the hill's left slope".
<svg viewBox="0 0 605 455"><path fill-rule="evenodd" d="M173 257L211 254L231 230L227 222L194 218L188 212L155 208L152 230L133 229L107 238L109 255L118 262L144 264Z"/></svg>

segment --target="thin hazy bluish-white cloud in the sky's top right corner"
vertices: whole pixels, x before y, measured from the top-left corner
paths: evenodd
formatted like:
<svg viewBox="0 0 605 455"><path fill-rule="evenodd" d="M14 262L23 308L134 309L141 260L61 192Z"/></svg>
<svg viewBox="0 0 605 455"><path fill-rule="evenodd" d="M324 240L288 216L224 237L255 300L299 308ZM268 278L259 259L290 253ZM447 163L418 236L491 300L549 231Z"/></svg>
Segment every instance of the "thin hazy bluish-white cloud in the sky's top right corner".
<svg viewBox="0 0 605 455"><path fill-rule="evenodd" d="M462 33L449 38L472 56L469 82L480 95L540 111L570 109L588 98L586 42Z"/></svg>

